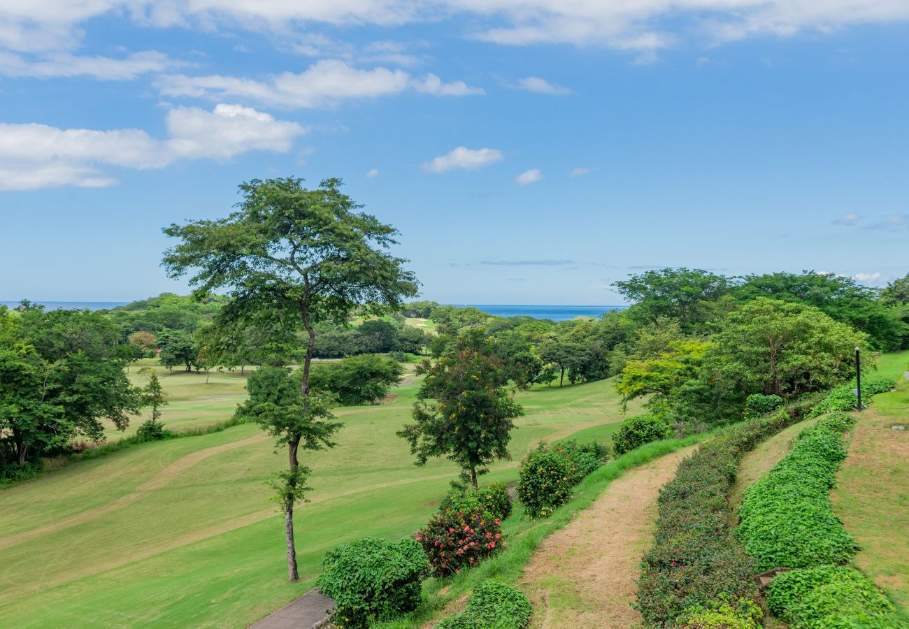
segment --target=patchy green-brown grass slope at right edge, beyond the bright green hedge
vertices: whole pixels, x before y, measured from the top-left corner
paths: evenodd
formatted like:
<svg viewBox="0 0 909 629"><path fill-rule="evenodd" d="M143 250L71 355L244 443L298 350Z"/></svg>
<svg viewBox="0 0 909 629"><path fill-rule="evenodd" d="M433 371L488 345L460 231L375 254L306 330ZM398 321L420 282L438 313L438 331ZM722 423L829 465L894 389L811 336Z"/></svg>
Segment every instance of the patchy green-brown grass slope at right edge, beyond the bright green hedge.
<svg viewBox="0 0 909 629"><path fill-rule="evenodd" d="M875 395L858 415L833 493L835 513L862 545L855 563L904 611L909 611L909 432L890 426L909 424L907 362L909 352L885 354L879 361L881 374L898 378L898 391Z"/></svg>

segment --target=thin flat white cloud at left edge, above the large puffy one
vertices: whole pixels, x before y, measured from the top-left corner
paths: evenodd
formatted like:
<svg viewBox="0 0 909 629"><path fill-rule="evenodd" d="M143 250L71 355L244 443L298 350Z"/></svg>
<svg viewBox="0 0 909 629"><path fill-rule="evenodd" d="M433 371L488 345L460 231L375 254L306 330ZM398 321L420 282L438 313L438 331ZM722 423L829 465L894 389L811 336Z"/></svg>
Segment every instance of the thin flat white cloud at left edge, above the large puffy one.
<svg viewBox="0 0 909 629"><path fill-rule="evenodd" d="M0 51L0 74L7 76L90 76L103 81L125 81L138 75L165 72L182 65L187 64L155 50L133 53L120 59L57 53L38 60L28 60L21 55Z"/></svg>

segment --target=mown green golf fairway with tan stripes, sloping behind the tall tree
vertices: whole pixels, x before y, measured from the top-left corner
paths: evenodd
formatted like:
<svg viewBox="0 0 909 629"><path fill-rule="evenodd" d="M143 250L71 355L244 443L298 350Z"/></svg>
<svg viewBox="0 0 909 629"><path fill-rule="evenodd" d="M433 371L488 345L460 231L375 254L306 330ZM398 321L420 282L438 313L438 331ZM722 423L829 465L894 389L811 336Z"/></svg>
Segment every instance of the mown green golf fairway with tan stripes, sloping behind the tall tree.
<svg viewBox="0 0 909 629"><path fill-rule="evenodd" d="M162 381L169 428L225 420L243 398L239 375ZM338 447L305 454L315 490L296 518L302 583L285 583L282 520L265 486L285 453L239 425L141 444L0 492L0 618L17 627L243 627L308 589L335 544L412 534L455 474L445 461L415 467L395 436L417 385L398 387L386 404L337 409ZM514 460L494 465L487 481L515 480L517 459L538 439L603 438L622 419L612 381L518 399L526 416Z"/></svg>

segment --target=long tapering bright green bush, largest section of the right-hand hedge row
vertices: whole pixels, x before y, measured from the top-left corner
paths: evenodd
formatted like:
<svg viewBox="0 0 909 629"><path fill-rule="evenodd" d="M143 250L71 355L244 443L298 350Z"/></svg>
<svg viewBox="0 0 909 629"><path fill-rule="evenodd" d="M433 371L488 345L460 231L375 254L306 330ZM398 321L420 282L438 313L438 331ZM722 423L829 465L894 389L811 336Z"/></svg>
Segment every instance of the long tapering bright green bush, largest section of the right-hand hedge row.
<svg viewBox="0 0 909 629"><path fill-rule="evenodd" d="M830 501L846 456L843 433L853 423L848 414L828 414L803 430L792 453L745 491L736 535L758 569L844 564L854 554L854 539Z"/></svg>

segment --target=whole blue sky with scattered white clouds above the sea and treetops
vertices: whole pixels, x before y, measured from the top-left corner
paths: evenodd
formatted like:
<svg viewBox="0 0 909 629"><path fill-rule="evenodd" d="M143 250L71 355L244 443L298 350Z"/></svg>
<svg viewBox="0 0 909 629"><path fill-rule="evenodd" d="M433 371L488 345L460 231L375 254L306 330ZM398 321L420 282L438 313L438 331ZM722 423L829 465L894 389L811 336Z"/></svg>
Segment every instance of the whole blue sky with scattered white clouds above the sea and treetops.
<svg viewBox="0 0 909 629"><path fill-rule="evenodd" d="M683 265L884 285L907 146L892 0L0 1L0 300L185 291L161 227L276 175L342 177L443 302L612 304Z"/></svg>

